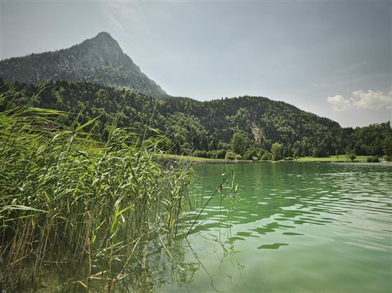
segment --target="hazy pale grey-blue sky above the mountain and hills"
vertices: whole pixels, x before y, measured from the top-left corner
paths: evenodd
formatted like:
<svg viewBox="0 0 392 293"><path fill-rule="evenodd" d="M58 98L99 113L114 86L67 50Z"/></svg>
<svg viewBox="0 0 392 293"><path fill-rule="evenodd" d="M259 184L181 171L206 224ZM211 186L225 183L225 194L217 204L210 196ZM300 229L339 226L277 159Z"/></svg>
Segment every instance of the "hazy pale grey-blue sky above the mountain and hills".
<svg viewBox="0 0 392 293"><path fill-rule="evenodd" d="M108 31L173 96L266 96L342 126L392 120L391 1L5 1L1 59Z"/></svg>

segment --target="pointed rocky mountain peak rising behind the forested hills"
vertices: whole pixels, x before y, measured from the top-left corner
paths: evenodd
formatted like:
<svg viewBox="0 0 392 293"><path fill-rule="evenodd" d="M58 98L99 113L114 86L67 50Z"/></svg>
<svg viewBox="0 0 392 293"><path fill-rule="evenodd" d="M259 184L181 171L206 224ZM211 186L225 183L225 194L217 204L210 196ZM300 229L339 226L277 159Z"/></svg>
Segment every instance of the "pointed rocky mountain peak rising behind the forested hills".
<svg viewBox="0 0 392 293"><path fill-rule="evenodd" d="M92 82L106 87L132 89L155 98L169 97L140 71L106 32L68 49L2 60L0 77L32 84L48 80Z"/></svg>

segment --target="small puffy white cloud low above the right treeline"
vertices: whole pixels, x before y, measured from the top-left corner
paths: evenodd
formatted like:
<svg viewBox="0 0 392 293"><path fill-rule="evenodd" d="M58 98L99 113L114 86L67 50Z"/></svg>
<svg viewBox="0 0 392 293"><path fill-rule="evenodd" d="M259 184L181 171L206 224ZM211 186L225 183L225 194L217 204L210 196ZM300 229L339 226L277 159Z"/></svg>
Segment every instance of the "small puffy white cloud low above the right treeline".
<svg viewBox="0 0 392 293"><path fill-rule="evenodd" d="M386 107L392 109L392 91L384 93L383 91L353 91L352 96L344 98L344 96L336 95L327 98L331 103L332 109L342 112L350 109L379 109Z"/></svg>

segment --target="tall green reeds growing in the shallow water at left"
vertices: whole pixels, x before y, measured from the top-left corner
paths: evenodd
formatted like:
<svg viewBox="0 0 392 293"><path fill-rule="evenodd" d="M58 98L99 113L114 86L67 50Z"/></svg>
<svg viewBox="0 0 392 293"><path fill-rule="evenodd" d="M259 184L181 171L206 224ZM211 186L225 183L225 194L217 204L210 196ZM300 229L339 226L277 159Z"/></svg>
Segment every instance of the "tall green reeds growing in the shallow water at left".
<svg viewBox="0 0 392 293"><path fill-rule="evenodd" d="M151 241L165 252L177 233L189 170L162 158L157 132L113 123L97 142L99 119L59 125L63 112L30 102L0 112L1 288L23 290L52 265L86 289L97 276L137 289Z"/></svg>

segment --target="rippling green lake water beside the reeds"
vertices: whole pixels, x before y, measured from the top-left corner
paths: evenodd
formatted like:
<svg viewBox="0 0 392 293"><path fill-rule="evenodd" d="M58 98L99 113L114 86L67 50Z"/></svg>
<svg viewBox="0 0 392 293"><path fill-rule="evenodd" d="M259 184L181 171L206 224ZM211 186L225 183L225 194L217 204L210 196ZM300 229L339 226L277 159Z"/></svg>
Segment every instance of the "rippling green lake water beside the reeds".
<svg viewBox="0 0 392 293"><path fill-rule="evenodd" d="M161 290L392 292L391 165L194 169L191 193L207 200L221 174L233 170L242 201L228 212L218 195L212 198L196 221L200 226L181 241L182 278Z"/></svg>

